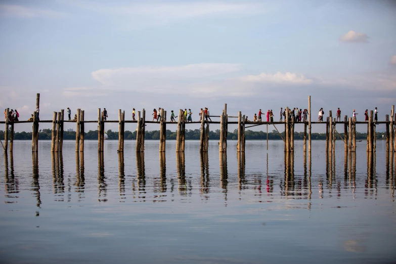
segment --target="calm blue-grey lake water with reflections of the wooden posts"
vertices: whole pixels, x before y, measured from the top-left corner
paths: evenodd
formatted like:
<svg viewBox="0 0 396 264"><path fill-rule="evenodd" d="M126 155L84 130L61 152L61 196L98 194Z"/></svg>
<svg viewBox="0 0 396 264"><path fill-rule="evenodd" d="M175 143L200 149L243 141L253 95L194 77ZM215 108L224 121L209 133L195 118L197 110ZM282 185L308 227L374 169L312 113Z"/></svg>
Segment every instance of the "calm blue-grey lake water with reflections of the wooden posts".
<svg viewBox="0 0 396 264"><path fill-rule="evenodd" d="M0 157L2 263L391 263L396 259L396 155L385 142L368 157L365 142L331 162L324 141L311 158L295 142L236 141L219 155L217 141L200 155L167 141L85 141L83 155L65 141L52 155L40 141L15 141Z"/></svg>

